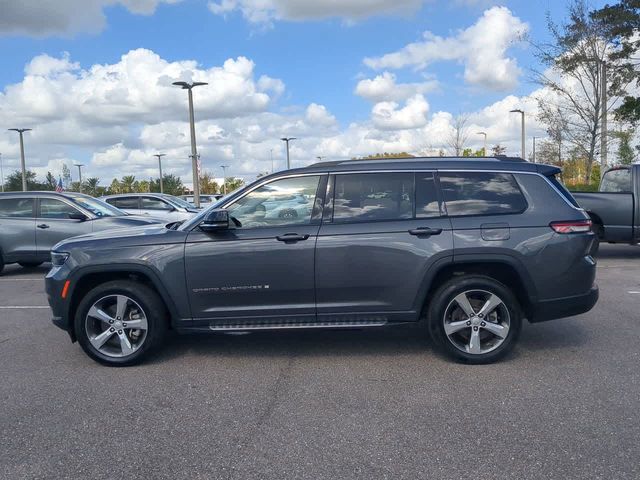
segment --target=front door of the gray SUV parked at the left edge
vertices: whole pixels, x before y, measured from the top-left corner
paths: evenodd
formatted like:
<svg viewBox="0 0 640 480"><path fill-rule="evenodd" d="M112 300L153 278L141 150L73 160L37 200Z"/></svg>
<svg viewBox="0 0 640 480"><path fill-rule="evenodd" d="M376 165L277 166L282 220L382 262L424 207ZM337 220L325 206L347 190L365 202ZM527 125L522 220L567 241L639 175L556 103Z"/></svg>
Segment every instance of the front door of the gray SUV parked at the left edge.
<svg viewBox="0 0 640 480"><path fill-rule="evenodd" d="M36 245L38 258L46 261L50 258L51 248L66 238L91 233L92 220L72 220L70 213L82 213L72 205L55 198L39 200L36 218Z"/></svg>

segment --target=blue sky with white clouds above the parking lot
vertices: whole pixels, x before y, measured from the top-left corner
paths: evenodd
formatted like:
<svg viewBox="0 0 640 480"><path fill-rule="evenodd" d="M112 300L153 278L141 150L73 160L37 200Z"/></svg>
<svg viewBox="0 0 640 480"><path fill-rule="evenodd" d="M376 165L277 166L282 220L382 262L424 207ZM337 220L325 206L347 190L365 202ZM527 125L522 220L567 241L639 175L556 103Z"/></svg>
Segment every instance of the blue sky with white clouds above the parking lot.
<svg viewBox="0 0 640 480"><path fill-rule="evenodd" d="M592 1L595 8L604 2ZM468 117L471 148L520 153L545 137L540 69L562 0L0 0L0 154L4 175L56 177L67 164L114 177L191 184L186 92L194 89L202 168L247 181L291 163L380 152L452 153Z"/></svg>

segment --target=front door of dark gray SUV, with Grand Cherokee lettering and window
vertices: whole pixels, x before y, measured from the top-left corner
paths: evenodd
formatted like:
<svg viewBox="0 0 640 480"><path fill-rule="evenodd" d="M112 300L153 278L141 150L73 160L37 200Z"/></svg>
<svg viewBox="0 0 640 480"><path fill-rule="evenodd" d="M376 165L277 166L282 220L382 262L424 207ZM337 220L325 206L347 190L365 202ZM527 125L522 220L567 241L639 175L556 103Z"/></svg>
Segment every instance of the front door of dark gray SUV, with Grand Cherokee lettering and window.
<svg viewBox="0 0 640 480"><path fill-rule="evenodd" d="M189 234L185 268L196 320L315 320L320 179L291 177L259 186L226 206L236 228Z"/></svg>

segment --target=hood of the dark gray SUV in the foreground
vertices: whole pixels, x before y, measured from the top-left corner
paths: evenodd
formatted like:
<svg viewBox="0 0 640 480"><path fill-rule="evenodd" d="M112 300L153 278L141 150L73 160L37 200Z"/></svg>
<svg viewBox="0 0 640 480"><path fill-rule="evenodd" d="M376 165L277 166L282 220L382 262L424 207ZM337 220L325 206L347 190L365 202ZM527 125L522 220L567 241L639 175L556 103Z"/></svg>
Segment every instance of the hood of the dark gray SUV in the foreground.
<svg viewBox="0 0 640 480"><path fill-rule="evenodd" d="M95 231L85 235L68 238L54 245L52 250L67 251L71 248L120 248L137 245L166 245L182 243L186 232L169 230L162 224L137 225L123 228L113 226L108 230Z"/></svg>

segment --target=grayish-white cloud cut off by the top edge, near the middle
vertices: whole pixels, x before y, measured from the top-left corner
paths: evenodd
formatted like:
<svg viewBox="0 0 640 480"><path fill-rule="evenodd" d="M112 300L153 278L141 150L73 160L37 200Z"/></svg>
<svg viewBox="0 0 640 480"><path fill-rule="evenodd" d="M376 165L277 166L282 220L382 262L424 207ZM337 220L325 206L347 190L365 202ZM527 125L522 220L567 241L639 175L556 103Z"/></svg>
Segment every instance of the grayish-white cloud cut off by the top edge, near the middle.
<svg viewBox="0 0 640 480"><path fill-rule="evenodd" d="M342 18L353 21L381 14L407 14L425 0L212 0L216 15L240 12L251 23L273 20L318 20Z"/></svg>

